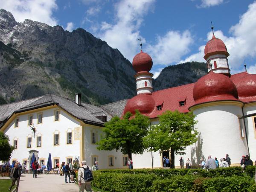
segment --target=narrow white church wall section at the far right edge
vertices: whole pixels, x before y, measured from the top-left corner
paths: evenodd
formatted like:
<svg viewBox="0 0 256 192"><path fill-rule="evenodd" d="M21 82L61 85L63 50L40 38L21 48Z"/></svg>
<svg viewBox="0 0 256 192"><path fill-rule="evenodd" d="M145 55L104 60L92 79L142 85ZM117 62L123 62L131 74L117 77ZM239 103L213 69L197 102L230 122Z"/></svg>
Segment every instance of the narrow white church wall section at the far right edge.
<svg viewBox="0 0 256 192"><path fill-rule="evenodd" d="M249 115L252 113L256 113L256 103L254 105L246 106L244 107L244 115ZM255 162L256 160L256 127L255 127L255 121L254 118L256 116L250 116L248 118L245 118L245 125L247 128L247 136L248 136L248 146L250 150L250 159Z"/></svg>

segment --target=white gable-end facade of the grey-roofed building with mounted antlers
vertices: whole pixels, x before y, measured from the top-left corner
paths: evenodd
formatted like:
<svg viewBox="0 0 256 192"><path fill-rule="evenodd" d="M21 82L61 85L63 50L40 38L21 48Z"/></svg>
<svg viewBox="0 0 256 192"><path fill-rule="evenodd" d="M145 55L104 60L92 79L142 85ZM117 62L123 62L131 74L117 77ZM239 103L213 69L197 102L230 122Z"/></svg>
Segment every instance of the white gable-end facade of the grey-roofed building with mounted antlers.
<svg viewBox="0 0 256 192"><path fill-rule="evenodd" d="M12 154L10 161L16 159L23 163L24 159L28 159L29 151L38 151L39 159L43 158L47 163L49 153L52 157L52 166L54 165L54 157L59 158L59 162L65 161L66 157L74 159L79 156L79 140L74 139L74 128L79 127L79 122L73 117L60 110L60 120L54 120L54 111L59 108L51 108L35 113L26 113L20 116L17 128L14 128L14 121L4 130L9 135L10 144L17 138L17 149ZM38 113L43 114L42 123L38 124ZM28 125L28 115L33 115L33 123L36 128L35 137ZM59 133L59 145L54 145L54 132ZM72 144L67 144L67 132L72 131ZM37 147L37 135L41 134L41 147ZM32 136L32 146L27 148L27 137ZM10 162L11 163L11 162Z"/></svg>

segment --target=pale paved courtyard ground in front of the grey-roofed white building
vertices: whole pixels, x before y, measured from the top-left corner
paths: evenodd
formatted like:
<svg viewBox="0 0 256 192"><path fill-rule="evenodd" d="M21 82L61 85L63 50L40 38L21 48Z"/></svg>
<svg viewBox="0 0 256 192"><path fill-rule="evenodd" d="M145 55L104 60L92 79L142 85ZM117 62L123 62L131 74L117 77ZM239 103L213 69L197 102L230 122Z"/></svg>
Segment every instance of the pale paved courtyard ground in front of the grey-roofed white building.
<svg viewBox="0 0 256 192"><path fill-rule="evenodd" d="M1 178L1 177L0 177ZM68 177L67 177L68 181ZM14 188L13 188L14 189ZM19 192L77 192L78 185L65 183L65 177L53 174L39 174L33 178L32 174L22 174Z"/></svg>

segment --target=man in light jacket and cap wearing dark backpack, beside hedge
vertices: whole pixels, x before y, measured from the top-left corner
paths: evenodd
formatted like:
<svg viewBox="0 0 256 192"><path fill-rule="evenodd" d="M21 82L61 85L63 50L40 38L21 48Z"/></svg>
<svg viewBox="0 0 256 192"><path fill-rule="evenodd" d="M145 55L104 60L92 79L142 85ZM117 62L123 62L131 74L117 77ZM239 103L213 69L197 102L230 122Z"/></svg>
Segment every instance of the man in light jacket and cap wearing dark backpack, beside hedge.
<svg viewBox="0 0 256 192"><path fill-rule="evenodd" d="M79 192L92 191L91 181L93 180L92 170L89 166L86 165L86 161L81 162L82 166L78 170L78 185Z"/></svg>

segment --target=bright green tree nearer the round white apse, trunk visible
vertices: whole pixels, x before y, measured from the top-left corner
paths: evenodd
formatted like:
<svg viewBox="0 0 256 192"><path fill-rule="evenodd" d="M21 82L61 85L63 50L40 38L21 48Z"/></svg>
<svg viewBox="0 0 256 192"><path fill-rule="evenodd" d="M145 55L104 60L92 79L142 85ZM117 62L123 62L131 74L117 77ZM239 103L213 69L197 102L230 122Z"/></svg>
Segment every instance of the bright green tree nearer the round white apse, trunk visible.
<svg viewBox="0 0 256 192"><path fill-rule="evenodd" d="M184 149L195 143L198 132L194 125L193 113L166 111L158 116L159 124L152 125L148 135L144 137L144 145L148 151L171 151L170 165L175 166L175 154L185 154Z"/></svg>

